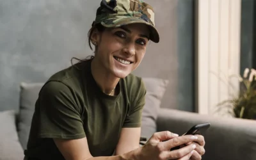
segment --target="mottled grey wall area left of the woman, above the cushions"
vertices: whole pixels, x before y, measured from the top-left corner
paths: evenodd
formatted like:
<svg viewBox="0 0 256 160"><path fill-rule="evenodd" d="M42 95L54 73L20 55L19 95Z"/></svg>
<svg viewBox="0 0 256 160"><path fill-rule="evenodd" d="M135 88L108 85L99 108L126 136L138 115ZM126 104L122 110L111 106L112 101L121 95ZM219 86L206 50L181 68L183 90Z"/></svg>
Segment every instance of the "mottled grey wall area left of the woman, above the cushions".
<svg viewBox="0 0 256 160"><path fill-rule="evenodd" d="M92 0L0 1L2 109L18 108L20 82L44 82L72 56L92 53L86 34L96 9Z"/></svg>

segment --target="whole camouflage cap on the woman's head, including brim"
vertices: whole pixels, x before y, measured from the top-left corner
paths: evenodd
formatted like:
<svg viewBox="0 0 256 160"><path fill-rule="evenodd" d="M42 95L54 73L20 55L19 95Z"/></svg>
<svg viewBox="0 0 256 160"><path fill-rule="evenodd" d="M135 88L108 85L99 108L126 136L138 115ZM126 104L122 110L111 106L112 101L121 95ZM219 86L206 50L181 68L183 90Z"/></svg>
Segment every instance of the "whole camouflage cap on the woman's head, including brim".
<svg viewBox="0 0 256 160"><path fill-rule="evenodd" d="M106 28L115 28L132 23L147 24L150 29L150 40L159 42L154 10L142 0L102 0L92 26L102 24Z"/></svg>

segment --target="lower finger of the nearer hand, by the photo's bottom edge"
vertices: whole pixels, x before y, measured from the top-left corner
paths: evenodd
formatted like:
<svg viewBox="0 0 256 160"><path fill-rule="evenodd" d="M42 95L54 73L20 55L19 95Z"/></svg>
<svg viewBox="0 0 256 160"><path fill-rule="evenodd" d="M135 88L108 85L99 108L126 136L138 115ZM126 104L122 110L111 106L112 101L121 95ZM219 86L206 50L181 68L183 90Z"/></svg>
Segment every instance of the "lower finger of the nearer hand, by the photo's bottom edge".
<svg viewBox="0 0 256 160"><path fill-rule="evenodd" d="M184 157L188 154L191 154L191 152L196 148L195 144L188 145L186 147L180 148L178 150L172 150L168 152L168 159L179 159L181 157Z"/></svg>

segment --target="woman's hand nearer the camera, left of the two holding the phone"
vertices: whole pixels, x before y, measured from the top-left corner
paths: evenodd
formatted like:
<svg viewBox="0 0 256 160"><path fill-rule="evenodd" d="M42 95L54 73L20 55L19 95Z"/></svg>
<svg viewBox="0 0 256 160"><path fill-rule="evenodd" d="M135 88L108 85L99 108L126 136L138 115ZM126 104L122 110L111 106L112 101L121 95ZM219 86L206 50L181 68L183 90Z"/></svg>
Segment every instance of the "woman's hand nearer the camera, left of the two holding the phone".
<svg viewBox="0 0 256 160"><path fill-rule="evenodd" d="M156 132L147 143L138 150L136 156L140 160L189 160L196 148L196 145L192 143L195 139L196 136L186 135L179 137L177 134L173 134L169 131ZM170 148L188 143L191 144L178 150L170 151Z"/></svg>

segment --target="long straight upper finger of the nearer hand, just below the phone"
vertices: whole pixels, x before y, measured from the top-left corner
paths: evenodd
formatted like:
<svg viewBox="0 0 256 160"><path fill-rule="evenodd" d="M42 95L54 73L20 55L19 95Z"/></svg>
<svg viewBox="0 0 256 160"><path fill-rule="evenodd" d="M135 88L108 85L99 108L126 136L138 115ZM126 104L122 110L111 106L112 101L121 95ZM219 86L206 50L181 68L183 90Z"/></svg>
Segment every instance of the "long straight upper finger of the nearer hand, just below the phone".
<svg viewBox="0 0 256 160"><path fill-rule="evenodd" d="M186 135L186 136L179 136L176 138L172 138L171 140L168 141L164 141L164 146L169 147L169 148L173 148L179 145L183 145L186 143L189 143L191 141L194 141L198 139L196 136L192 136L192 135Z"/></svg>

